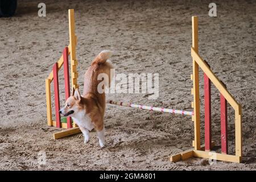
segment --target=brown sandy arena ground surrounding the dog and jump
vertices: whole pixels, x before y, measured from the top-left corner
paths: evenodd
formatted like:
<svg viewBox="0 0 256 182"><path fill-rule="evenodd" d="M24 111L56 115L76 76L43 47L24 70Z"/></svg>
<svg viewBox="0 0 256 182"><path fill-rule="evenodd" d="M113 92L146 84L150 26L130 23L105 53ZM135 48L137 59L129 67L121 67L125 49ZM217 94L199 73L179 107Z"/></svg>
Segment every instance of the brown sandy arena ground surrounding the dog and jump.
<svg viewBox="0 0 256 182"><path fill-rule="evenodd" d="M19 1L12 18L0 19L0 169L3 170L255 170L256 2L216 1L217 17L208 16L208 1ZM68 9L75 9L79 84L93 57L115 51L117 73L159 73L159 98L147 94L108 94L117 101L191 109L191 16L199 15L200 55L242 105L241 164L192 158L171 163L172 154L192 147L191 117L150 113L108 105L106 142L96 133L88 144L82 134L54 140L47 126L44 79L68 40ZM203 73L200 72L201 139L204 141ZM64 103L60 76L61 105ZM220 100L212 87L212 133L220 151ZM234 111L229 106L229 152L234 154ZM39 152L46 164L39 165Z"/></svg>

